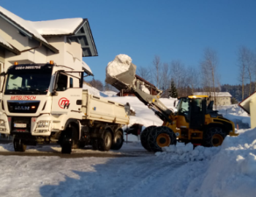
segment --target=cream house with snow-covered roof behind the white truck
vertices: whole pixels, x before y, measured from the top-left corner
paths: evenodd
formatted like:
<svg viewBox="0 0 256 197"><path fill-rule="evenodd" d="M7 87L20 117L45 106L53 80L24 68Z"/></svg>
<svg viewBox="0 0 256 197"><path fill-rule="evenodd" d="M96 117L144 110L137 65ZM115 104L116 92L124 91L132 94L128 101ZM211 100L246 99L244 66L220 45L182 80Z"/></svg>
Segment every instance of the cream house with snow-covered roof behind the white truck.
<svg viewBox="0 0 256 197"><path fill-rule="evenodd" d="M91 69L83 57L97 56L89 21L83 18L29 21L0 7L0 70L6 71L16 61L47 63L74 69Z"/></svg>

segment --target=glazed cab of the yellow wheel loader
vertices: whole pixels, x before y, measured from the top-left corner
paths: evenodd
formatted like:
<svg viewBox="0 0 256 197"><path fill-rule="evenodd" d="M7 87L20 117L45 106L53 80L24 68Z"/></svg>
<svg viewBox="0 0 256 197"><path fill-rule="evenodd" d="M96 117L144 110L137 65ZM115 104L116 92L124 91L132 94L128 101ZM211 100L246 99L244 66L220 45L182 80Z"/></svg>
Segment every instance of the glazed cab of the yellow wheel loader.
<svg viewBox="0 0 256 197"><path fill-rule="evenodd" d="M180 98L177 106L177 125L193 129L203 128L207 99L208 96L188 96Z"/></svg>

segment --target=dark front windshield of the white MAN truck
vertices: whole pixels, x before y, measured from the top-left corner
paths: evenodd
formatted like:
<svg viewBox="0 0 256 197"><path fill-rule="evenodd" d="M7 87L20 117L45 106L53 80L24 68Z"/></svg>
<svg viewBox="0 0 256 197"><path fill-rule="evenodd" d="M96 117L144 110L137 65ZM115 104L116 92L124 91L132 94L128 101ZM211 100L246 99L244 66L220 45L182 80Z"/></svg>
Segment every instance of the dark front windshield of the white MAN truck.
<svg viewBox="0 0 256 197"><path fill-rule="evenodd" d="M41 66L46 67L46 66ZM42 69L10 69L4 94L47 94L52 67Z"/></svg>

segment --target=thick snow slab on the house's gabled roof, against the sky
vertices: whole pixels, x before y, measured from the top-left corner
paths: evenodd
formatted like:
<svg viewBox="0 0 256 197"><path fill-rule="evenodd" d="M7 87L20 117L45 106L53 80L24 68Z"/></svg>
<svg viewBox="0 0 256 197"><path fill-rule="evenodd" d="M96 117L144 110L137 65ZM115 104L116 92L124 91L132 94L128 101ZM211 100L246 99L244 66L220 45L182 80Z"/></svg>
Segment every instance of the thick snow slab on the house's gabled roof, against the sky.
<svg viewBox="0 0 256 197"><path fill-rule="evenodd" d="M66 18L59 20L44 20L30 22L41 35L61 35L73 34L78 26L83 22L83 18Z"/></svg>

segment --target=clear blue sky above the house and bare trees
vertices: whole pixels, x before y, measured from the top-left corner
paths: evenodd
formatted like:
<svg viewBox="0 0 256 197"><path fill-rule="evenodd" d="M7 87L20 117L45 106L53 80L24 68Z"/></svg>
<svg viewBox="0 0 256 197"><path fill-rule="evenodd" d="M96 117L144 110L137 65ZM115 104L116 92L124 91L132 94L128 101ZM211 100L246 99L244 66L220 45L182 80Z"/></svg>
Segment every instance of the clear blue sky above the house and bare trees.
<svg viewBox="0 0 256 197"><path fill-rule="evenodd" d="M197 0L0 0L1 7L26 20L88 18L99 56L84 58L95 79L124 53L137 66L179 60L198 66L203 50L217 51L222 84L238 84L238 47L256 50L256 1Z"/></svg>

